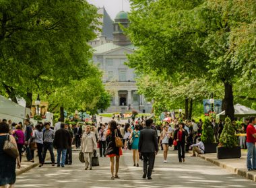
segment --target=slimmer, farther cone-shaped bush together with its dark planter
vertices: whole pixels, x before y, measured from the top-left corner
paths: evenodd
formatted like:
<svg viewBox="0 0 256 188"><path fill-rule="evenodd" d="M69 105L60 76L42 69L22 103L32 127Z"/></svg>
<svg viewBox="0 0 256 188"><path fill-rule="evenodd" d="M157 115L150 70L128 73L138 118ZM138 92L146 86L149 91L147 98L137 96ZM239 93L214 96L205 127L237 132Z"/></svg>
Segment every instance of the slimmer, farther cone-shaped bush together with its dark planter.
<svg viewBox="0 0 256 188"><path fill-rule="evenodd" d="M216 153L218 144L214 143L214 129L212 128L212 123L209 118L205 118L205 120L203 120L201 141L204 144L205 153Z"/></svg>

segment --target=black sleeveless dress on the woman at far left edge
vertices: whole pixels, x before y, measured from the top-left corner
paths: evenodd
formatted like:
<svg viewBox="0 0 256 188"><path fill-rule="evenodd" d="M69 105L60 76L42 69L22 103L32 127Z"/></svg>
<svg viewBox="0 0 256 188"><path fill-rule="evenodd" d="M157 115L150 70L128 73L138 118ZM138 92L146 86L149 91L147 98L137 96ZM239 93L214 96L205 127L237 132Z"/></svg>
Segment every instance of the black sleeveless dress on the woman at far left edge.
<svg viewBox="0 0 256 188"><path fill-rule="evenodd" d="M7 140L6 135L0 136L0 186L12 185L16 181L16 158L12 158L3 151L5 140Z"/></svg>

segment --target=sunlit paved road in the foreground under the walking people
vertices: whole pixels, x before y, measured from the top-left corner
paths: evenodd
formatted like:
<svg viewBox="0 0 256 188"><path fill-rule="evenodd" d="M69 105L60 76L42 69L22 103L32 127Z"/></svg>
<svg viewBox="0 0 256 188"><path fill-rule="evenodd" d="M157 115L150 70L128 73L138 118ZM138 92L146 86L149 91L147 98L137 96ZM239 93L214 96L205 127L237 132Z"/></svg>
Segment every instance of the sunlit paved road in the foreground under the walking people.
<svg viewBox="0 0 256 188"><path fill-rule="evenodd" d="M44 165L34 168L17 177L15 187L256 187L256 183L234 175L211 162L187 156L186 162L178 162L177 152L170 150L168 163L163 163L162 152L156 157L152 181L142 179L140 167L133 167L131 151L124 151L121 157L119 177L110 180L109 158L100 158L100 167L85 171L84 164L78 160L78 151L73 152L71 166L51 167Z"/></svg>

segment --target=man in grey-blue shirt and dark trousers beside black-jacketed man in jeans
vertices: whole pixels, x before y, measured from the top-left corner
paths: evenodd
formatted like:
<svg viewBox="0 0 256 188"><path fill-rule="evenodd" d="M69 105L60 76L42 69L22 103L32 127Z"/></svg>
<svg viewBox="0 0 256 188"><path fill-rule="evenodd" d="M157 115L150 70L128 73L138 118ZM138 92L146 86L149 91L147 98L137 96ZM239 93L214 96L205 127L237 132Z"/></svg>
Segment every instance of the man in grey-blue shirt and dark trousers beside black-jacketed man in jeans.
<svg viewBox="0 0 256 188"><path fill-rule="evenodd" d="M45 130L43 131L43 138L44 138L44 149L43 149L43 154L42 154L42 164L44 164L44 160L46 157L46 152L49 150L50 155L51 155L51 162L52 166L55 166L55 156L53 153L53 139L55 136L54 130L50 128L50 123L46 122L44 124Z"/></svg>

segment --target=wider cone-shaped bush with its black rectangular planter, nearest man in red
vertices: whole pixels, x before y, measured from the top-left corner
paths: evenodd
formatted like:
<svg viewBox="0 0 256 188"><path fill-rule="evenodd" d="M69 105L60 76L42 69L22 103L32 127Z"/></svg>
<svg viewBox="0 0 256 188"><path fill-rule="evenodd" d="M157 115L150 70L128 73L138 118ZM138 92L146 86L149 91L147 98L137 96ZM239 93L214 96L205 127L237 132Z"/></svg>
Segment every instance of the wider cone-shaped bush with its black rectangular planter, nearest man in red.
<svg viewBox="0 0 256 188"><path fill-rule="evenodd" d="M236 130L230 118L225 119L225 126L220 135L220 144L217 148L217 158L240 158L241 148L238 146Z"/></svg>

